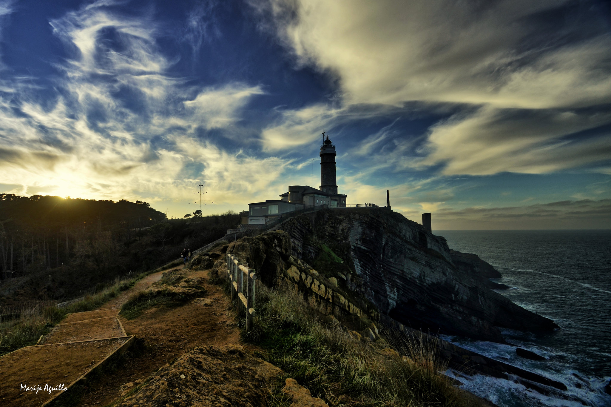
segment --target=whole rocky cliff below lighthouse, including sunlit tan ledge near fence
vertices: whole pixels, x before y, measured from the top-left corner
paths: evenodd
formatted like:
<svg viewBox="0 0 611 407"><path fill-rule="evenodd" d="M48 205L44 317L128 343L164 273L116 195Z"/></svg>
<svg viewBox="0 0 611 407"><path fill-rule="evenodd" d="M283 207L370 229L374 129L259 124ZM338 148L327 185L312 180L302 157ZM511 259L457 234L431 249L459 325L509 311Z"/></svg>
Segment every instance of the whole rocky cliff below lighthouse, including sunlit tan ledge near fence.
<svg viewBox="0 0 611 407"><path fill-rule="evenodd" d="M499 328L553 331L551 320L488 288L500 277L477 255L385 208L321 210L284 222L284 232L232 243L267 285L290 284L345 318L399 321L424 331L504 342ZM326 305L325 305L326 304Z"/></svg>

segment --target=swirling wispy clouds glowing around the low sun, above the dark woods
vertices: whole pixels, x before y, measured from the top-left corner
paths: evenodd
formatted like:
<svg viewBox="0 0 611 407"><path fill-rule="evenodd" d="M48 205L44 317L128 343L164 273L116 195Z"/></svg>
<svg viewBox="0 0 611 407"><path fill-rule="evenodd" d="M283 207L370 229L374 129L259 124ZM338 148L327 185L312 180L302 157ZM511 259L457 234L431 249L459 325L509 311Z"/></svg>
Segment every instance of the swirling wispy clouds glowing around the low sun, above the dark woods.
<svg viewBox="0 0 611 407"><path fill-rule="evenodd" d="M287 163L222 150L197 131L232 131L261 87L202 88L170 76L155 21L112 5L94 2L51 21L72 56L59 65L50 107L27 87L0 103L1 182L22 192L155 202L191 200L185 187L202 177L218 202L260 194Z"/></svg>

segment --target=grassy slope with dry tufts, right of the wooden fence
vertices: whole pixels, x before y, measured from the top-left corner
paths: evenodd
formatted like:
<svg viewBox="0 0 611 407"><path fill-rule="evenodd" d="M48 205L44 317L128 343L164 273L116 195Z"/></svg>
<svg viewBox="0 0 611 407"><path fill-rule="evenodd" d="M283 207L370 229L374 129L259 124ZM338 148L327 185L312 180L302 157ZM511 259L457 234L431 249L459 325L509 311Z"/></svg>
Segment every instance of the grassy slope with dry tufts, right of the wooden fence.
<svg viewBox="0 0 611 407"><path fill-rule="evenodd" d="M414 337L392 338L407 358L387 356L376 345L326 325L295 293L258 286L254 329L244 339L265 348L262 356L329 406L469 406L445 376L435 348ZM288 405L279 384L270 404Z"/></svg>

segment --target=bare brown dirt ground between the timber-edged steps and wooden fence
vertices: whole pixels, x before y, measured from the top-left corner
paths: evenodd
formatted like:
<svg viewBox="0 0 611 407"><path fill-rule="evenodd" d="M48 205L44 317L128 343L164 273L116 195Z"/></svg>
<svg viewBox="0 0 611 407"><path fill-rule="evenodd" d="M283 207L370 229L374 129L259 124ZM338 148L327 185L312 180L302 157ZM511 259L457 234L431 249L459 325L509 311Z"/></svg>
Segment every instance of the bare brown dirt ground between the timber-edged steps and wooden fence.
<svg viewBox="0 0 611 407"><path fill-rule="evenodd" d="M203 345L228 345L240 342L240 331L228 311L229 300L221 287L208 283L208 271L189 271L189 277L203 277L207 301L196 299L181 307L155 308L133 320L119 315L128 335L141 339L143 350L133 358L125 358L121 367L104 375L87 389L79 406L106 406L121 397L121 386L136 380L147 380L160 367L172 363L186 351ZM158 274L158 276L156 275ZM119 306L129 296L147 288L163 273L142 279L131 290L101 308ZM204 305L206 303L206 305Z"/></svg>

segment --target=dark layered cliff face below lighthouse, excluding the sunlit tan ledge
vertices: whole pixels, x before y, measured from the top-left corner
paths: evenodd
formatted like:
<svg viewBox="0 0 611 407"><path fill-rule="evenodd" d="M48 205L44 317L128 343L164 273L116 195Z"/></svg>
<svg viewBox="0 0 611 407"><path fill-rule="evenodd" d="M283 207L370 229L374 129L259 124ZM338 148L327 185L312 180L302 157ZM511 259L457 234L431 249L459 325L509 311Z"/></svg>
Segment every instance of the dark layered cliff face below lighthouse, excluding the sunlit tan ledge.
<svg viewBox="0 0 611 407"><path fill-rule="evenodd" d="M398 213L384 208L321 210L281 227L291 237L293 257L313 262L316 248L311 242L323 242L353 270L345 276L349 290L375 304L382 316L412 328L494 342L504 342L499 328L558 328L489 290L483 279L495 274L488 263L452 254L444 238ZM474 263L477 267L469 269Z"/></svg>

